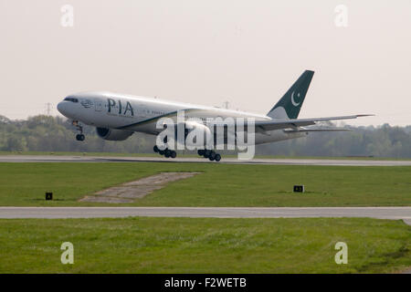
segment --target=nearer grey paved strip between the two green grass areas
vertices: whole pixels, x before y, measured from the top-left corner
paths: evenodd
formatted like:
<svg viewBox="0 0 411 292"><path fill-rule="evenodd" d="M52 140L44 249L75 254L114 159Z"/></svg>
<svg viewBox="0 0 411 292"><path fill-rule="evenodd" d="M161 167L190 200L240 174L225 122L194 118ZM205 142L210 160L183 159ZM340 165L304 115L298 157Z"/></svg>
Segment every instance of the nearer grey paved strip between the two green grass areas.
<svg viewBox="0 0 411 292"><path fill-rule="evenodd" d="M370 217L403 219L411 224L411 207L0 207L0 218L313 218Z"/></svg>

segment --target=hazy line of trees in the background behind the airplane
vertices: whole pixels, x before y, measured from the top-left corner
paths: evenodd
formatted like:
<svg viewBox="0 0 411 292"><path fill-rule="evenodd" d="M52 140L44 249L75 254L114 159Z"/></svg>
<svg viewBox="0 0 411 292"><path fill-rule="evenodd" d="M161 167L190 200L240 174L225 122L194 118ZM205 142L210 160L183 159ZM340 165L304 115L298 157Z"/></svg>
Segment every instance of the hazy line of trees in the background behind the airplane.
<svg viewBox="0 0 411 292"><path fill-rule="evenodd" d="M257 154L284 156L374 156L411 158L411 126L353 127L343 132L311 132L304 138L258 145ZM39 115L26 120L0 116L1 151L81 151L151 153L155 137L134 133L126 141L104 141L85 126L86 141L76 141L69 120Z"/></svg>

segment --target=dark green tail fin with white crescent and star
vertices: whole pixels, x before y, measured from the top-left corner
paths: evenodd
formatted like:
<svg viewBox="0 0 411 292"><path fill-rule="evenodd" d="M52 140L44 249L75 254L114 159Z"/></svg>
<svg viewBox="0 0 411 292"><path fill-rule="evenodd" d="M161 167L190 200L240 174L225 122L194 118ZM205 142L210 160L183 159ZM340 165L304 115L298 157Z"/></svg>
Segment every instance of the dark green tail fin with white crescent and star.
<svg viewBox="0 0 411 292"><path fill-rule="evenodd" d="M297 119L314 71L305 70L267 114L273 119Z"/></svg>

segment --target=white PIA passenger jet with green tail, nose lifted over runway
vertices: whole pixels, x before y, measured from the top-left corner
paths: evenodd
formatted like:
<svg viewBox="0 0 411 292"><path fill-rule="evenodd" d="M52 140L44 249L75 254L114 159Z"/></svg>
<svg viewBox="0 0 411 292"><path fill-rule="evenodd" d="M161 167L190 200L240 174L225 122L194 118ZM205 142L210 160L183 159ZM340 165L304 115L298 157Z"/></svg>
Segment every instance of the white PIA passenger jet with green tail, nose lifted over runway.
<svg viewBox="0 0 411 292"><path fill-rule="evenodd" d="M347 130L345 128L312 128L321 121L348 120L371 115L351 115L329 118L298 119L301 106L311 84L314 72L305 70L290 89L279 99L266 115L245 111L227 110L214 107L147 98L107 91L89 91L72 94L58 103L58 111L72 120L79 130L77 141L84 141L82 124L96 127L98 136L108 141L124 141L133 132L143 132L159 135L161 130L156 122L162 118L175 119L179 110L184 110L185 116L195 119L188 129L209 130L207 118L252 118L255 120L255 144L284 141L300 138L315 131ZM159 149L153 146L153 151L166 158L175 158L177 153L170 149ZM210 161L219 162L221 155L213 149L198 149L200 156Z"/></svg>

